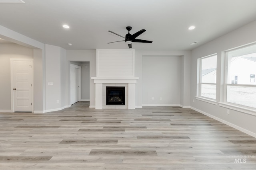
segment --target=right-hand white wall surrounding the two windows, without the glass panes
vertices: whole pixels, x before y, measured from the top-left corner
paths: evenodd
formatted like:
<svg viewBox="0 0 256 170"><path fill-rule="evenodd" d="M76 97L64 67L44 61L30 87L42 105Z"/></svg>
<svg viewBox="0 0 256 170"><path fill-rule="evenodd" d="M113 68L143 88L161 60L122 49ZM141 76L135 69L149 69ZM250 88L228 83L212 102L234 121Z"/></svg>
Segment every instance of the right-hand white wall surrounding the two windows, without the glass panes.
<svg viewBox="0 0 256 170"><path fill-rule="evenodd" d="M242 113L235 110L230 110L230 114L226 114L226 108L220 107L200 100L195 100L196 88L197 88L197 59L217 53L217 102L223 102L224 96L224 53L223 51L240 47L245 44L256 42L256 21L244 25L243 27L236 29L222 37L219 37L209 43L206 43L194 50L192 50L191 58L191 97L190 104L193 109L206 113L211 117L214 117L222 122L225 122L237 129L240 129L250 135L256 137L256 116L247 113ZM222 94L222 95L220 95Z"/></svg>

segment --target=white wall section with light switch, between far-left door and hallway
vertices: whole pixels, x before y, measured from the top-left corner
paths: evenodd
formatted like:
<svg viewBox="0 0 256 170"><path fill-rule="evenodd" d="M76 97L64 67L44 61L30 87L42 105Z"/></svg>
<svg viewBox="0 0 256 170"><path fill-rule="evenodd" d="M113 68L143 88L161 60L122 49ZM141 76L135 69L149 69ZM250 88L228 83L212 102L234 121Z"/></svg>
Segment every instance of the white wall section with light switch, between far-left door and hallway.
<svg viewBox="0 0 256 170"><path fill-rule="evenodd" d="M70 104L67 103L66 94L68 91L66 90L66 50L61 47L46 44L45 59L46 112L70 106Z"/></svg>

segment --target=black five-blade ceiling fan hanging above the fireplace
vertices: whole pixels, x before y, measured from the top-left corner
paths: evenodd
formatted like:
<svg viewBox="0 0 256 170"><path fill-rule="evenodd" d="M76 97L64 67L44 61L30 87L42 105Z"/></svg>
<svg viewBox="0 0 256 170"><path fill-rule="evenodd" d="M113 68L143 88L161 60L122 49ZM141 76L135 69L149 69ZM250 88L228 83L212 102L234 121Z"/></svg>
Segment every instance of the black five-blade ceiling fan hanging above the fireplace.
<svg viewBox="0 0 256 170"><path fill-rule="evenodd" d="M110 33L113 33L113 34L116 34L120 37L123 37L126 42L126 44L128 44L128 47L129 48L132 48L132 42L134 43L152 43L152 41L147 41L147 40L143 40L143 39L136 39L136 37L138 37L140 34L144 33L146 30L145 29L142 29L134 34L130 34L130 31L132 30L132 27L126 27L127 31L128 31L128 34L125 35L125 37L123 37L122 35L119 35L117 33L114 33L113 31L108 31ZM110 43L116 43L116 42L120 42L120 41L114 41L114 42L110 42ZM109 44L109 43L108 43Z"/></svg>

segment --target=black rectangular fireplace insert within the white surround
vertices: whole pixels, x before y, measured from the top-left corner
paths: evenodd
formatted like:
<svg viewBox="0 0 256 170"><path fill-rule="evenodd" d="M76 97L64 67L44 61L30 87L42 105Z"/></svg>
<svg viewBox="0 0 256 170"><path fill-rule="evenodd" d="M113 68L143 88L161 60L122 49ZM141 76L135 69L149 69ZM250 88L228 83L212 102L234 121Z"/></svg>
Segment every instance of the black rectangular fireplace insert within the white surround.
<svg viewBox="0 0 256 170"><path fill-rule="evenodd" d="M124 105L125 87L106 87L106 105Z"/></svg>

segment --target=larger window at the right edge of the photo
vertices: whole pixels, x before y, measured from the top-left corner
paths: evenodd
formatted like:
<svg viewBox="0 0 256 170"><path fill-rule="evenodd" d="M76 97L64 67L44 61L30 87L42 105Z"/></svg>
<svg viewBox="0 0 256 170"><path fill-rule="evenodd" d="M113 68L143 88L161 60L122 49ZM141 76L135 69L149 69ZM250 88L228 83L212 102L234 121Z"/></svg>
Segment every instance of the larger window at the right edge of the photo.
<svg viewBox="0 0 256 170"><path fill-rule="evenodd" d="M256 45L226 53L226 102L256 108Z"/></svg>

